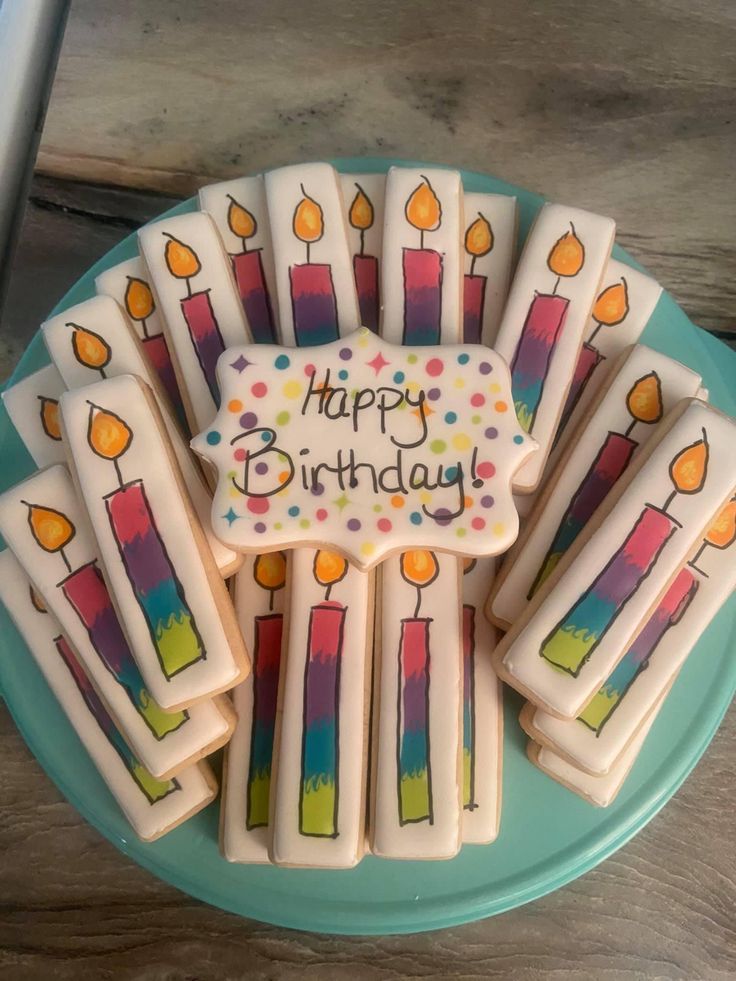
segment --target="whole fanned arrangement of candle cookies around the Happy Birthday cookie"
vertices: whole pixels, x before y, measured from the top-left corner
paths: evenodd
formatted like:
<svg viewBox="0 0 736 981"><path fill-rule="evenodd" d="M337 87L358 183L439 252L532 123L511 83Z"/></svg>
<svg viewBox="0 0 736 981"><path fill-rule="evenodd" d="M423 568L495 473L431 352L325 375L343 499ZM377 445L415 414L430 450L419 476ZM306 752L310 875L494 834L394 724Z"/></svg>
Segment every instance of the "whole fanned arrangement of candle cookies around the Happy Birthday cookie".
<svg viewBox="0 0 736 981"><path fill-rule="evenodd" d="M528 758L605 807L736 586L736 422L615 224L453 170L202 188L3 393L0 599L134 832L449 859ZM564 793L565 791L560 791ZM513 788L508 789L513 793Z"/></svg>

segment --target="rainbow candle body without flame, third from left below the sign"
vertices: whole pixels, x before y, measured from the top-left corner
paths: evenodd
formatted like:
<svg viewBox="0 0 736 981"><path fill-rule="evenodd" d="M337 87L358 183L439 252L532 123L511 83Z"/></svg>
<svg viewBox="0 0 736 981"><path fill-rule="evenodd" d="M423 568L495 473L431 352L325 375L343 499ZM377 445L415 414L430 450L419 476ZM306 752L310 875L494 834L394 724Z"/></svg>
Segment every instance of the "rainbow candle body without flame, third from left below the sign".
<svg viewBox="0 0 736 981"><path fill-rule="evenodd" d="M432 824L432 772L429 760L430 617L401 621L399 691L399 823Z"/></svg>

